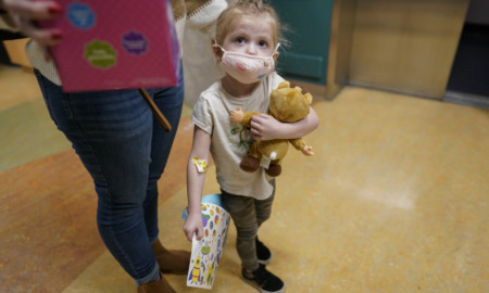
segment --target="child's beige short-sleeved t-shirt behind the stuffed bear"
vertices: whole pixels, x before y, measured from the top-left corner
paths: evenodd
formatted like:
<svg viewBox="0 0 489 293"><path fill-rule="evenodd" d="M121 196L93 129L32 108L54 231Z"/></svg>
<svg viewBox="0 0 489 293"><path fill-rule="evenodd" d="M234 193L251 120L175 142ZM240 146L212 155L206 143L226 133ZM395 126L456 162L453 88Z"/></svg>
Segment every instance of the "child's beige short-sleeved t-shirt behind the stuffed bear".
<svg viewBox="0 0 489 293"><path fill-rule="evenodd" d="M226 192L265 200L273 186L263 168L254 173L241 170L239 164L248 155L252 142L251 132L229 118L233 110L268 112L269 93L284 81L277 73L269 74L249 97L235 98L227 93L220 81L203 91L191 116L196 126L211 135L211 154L216 166L217 182Z"/></svg>

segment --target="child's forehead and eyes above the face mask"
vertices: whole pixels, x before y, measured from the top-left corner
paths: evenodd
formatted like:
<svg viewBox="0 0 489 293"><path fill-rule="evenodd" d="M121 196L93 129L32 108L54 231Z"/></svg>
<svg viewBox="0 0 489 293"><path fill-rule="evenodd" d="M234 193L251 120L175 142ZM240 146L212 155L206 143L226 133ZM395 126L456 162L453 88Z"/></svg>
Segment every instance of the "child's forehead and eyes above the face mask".
<svg viewBox="0 0 489 293"><path fill-rule="evenodd" d="M230 23L231 28L222 46L226 51L269 56L275 51L272 23L273 18L267 14L238 17Z"/></svg>

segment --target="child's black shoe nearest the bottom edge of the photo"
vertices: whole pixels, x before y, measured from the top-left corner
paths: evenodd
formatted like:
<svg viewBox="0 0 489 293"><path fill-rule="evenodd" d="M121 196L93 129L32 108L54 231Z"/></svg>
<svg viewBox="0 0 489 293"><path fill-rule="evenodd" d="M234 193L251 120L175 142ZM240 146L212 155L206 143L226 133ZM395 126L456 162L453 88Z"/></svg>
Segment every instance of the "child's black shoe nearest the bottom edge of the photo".
<svg viewBox="0 0 489 293"><path fill-rule="evenodd" d="M265 265L259 264L259 268L253 272L241 271L242 278L252 286L262 293L283 293L285 292L284 282L272 272L267 271Z"/></svg>

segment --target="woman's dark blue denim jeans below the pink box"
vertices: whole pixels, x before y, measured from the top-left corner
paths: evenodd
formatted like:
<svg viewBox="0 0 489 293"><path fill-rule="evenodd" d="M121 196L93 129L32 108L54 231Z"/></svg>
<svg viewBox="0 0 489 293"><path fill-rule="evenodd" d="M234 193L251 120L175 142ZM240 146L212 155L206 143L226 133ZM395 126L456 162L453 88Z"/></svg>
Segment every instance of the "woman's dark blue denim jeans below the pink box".
<svg viewBox="0 0 489 293"><path fill-rule="evenodd" d="M64 93L35 74L51 118L93 179L104 244L137 284L151 281L159 276L151 250L159 233L158 180L181 114L183 73L175 88L147 89L171 132L153 118L138 90Z"/></svg>

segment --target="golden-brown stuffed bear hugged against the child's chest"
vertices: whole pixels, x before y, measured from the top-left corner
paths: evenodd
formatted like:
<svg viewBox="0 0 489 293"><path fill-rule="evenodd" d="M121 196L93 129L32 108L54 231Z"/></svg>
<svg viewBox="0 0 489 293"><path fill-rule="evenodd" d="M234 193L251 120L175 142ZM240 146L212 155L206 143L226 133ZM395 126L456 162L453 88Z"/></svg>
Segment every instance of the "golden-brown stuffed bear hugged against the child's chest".
<svg viewBox="0 0 489 293"><path fill-rule="evenodd" d="M294 123L305 116L312 103L311 93L302 93L300 87L290 87L289 81L281 81L269 94L268 115L272 115L281 123ZM251 127L251 117L259 115L259 112L242 112L239 107L230 113L230 119ZM271 177L281 174L281 161L287 154L289 142L302 151L304 155L314 155L312 146L305 144L302 138L299 139L275 139L267 141L253 141L248 151L248 156L242 158L240 167L244 171L255 171L260 166L265 168L265 173Z"/></svg>

